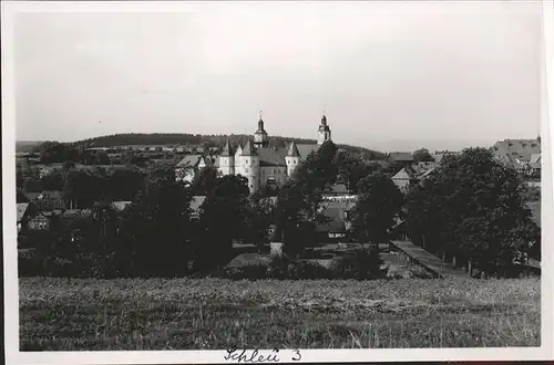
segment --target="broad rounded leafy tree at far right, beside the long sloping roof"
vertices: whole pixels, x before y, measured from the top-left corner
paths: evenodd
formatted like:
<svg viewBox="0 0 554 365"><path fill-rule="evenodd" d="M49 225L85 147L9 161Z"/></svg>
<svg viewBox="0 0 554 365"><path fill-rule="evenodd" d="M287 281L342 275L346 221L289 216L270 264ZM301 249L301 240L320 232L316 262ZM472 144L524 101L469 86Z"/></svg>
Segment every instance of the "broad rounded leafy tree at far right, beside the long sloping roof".
<svg viewBox="0 0 554 365"><path fill-rule="evenodd" d="M447 156L408 196L411 239L456 264L505 274L540 244L517 173L484 148Z"/></svg>

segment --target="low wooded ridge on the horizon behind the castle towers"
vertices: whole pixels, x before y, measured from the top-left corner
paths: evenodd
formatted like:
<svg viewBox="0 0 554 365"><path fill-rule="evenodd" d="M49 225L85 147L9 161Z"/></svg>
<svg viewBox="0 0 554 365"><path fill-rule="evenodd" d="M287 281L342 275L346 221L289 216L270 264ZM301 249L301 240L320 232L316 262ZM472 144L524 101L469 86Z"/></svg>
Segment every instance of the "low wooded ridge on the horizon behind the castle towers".
<svg viewBox="0 0 554 365"><path fill-rule="evenodd" d="M250 135L244 134L232 134L232 135L199 135L199 134L183 134L183 133L154 133L154 134L115 134L109 136L100 136L95 138L89 138L83 140L78 140L73 143L74 146L84 145L85 147L116 147L116 146L129 146L129 145L142 145L142 146L167 146L167 145L181 145L196 147L202 146L204 148L209 147L223 147L227 140L232 145L237 145L238 143L244 144ZM290 140L295 140L297 144L316 144L316 139L306 138L290 138L281 136L269 136L269 146L271 147L286 147ZM370 159L380 159L383 154L375 152L368 148L350 146L350 145L338 145L338 147L343 148L353 154L359 154Z"/></svg>

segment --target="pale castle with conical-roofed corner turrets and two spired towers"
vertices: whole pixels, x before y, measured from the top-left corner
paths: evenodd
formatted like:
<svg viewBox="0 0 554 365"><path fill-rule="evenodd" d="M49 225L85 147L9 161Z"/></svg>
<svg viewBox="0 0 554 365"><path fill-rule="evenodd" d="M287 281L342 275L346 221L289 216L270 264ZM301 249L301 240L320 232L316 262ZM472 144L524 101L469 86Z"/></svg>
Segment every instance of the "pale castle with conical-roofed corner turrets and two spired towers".
<svg viewBox="0 0 554 365"><path fill-rule="evenodd" d="M248 139L244 146L233 148L227 142L215 160L222 175L242 175L248 179L252 192L266 186L281 186L293 175L295 168L326 140L331 140L331 129L327 117L321 117L317 144L296 144L294 140L285 148L269 147L269 139L261 116L254 142Z"/></svg>

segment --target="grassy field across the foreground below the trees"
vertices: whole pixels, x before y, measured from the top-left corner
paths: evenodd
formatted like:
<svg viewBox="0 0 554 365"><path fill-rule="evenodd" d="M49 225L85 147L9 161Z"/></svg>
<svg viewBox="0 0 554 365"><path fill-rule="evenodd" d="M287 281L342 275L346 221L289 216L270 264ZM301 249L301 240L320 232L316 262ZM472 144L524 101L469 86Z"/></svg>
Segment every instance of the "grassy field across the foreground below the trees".
<svg viewBox="0 0 554 365"><path fill-rule="evenodd" d="M22 351L538 346L540 280L20 280Z"/></svg>

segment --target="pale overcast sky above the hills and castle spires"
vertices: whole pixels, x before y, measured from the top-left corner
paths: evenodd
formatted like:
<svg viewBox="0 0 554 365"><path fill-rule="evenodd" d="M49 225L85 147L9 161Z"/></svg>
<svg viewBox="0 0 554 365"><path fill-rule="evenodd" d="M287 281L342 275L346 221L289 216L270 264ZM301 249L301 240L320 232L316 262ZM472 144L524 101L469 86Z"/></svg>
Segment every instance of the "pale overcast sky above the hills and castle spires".
<svg viewBox="0 0 554 365"><path fill-rule="evenodd" d="M254 133L260 109L316 138L326 104L336 143L384 150L540 132L538 1L107 6L17 14L19 140Z"/></svg>

